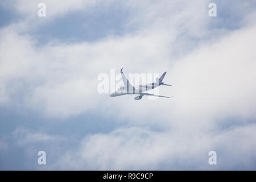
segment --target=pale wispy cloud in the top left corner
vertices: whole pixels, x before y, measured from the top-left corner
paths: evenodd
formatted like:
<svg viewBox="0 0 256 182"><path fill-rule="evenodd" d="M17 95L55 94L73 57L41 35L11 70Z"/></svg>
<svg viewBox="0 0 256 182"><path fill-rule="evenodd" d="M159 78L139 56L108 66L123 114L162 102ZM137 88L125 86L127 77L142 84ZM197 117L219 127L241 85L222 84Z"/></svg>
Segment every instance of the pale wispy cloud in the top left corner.
<svg viewBox="0 0 256 182"><path fill-rule="evenodd" d="M48 23L53 22L57 18L63 18L66 15L75 12L90 12L97 6L108 7L114 0L102 1L102 0L65 0L65 1L3 1L0 3L3 8L13 11L16 19L11 22L7 27L14 28L15 31L22 34L28 32L38 31ZM38 16L39 3L46 5L46 17L40 18Z"/></svg>

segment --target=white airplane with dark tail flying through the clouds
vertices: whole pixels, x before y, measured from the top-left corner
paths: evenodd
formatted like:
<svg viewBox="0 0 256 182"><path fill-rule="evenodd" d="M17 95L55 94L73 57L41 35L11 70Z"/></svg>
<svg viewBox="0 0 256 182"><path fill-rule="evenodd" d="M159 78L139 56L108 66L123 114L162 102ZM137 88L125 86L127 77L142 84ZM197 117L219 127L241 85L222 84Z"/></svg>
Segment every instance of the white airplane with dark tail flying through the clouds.
<svg viewBox="0 0 256 182"><path fill-rule="evenodd" d="M123 79L123 86L119 87L117 90L114 90L112 93L110 93L110 97L117 97L117 96L123 96L127 94L139 94L139 96L134 97L135 100L141 100L143 96L156 96L156 97L166 97L167 96L158 96L151 93L144 93L147 90L152 90L160 85L167 85L172 86L168 84L164 84L163 78L166 76L166 72L163 73L163 75L160 78L156 78L156 82L153 82L151 84L146 85L137 85L133 86L130 84L129 80L126 78L125 74L123 73L123 68L121 69L121 75Z"/></svg>

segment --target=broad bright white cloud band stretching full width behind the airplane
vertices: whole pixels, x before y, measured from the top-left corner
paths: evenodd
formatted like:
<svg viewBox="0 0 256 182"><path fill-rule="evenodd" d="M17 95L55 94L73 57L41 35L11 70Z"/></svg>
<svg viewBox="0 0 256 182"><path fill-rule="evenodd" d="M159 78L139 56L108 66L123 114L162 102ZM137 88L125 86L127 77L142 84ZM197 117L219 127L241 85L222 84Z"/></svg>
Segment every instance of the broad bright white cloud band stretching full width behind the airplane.
<svg viewBox="0 0 256 182"><path fill-rule="evenodd" d="M95 43L53 42L36 47L36 40L29 35L20 35L13 28L3 29L0 49L2 103L9 101L17 104L19 101L13 100L13 95L24 92L20 104L60 117L84 113L96 107L105 110L104 107L112 105L121 110L118 117L133 118L135 122L144 120L140 115L148 114L149 111L149 115L158 119L168 118L170 112L176 116L175 119L204 117L212 120L214 115L229 117L234 111L238 117L255 117L250 109L255 105L255 27L243 28L214 42L210 39L209 42L201 43L195 51L184 52L185 49L176 48L177 43L186 43L183 39L177 39L177 31L180 30L177 22L187 21L191 14L196 15L192 20L195 19L197 23L188 26L187 32L195 32L195 27L201 27L201 31L196 31L199 35L207 30L207 21L197 21L205 9L199 7L200 11L196 13L194 6L197 4L192 3L193 8L190 4L183 4L172 4L186 13L181 17L172 13L172 29L161 22L168 19L168 8L172 12L174 7L157 3L160 7L152 12L152 15L160 17L155 20L157 26ZM166 13L160 11L163 6ZM138 19L152 19L145 13L151 12L152 7L147 8L149 10L142 11ZM162 29L156 30L158 26ZM172 49L186 55L174 60L177 56ZM125 67L126 72L131 68L133 72L168 71L164 81L172 83L174 88L162 88L160 92L173 92L175 89L175 97L171 100L159 99L154 106L148 104L150 101L136 102L134 106L134 100L130 97L123 97L121 101L112 98L110 101L108 96L98 94L97 75L108 73L110 68L117 68L118 71L121 67ZM128 111L126 107L129 107ZM114 110L108 112L112 115L115 113ZM161 116L155 114L159 112Z"/></svg>

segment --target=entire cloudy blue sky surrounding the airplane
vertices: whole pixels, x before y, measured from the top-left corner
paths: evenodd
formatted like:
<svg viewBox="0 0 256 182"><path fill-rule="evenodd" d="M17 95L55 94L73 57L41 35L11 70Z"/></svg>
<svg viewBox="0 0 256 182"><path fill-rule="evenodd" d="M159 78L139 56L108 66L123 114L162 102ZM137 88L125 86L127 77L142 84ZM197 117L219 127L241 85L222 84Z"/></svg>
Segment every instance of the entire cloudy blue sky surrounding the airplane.
<svg viewBox="0 0 256 182"><path fill-rule="evenodd" d="M255 32L255 1L1 1L0 169L255 170ZM174 97L99 93L121 68Z"/></svg>

